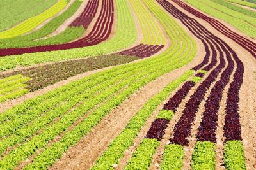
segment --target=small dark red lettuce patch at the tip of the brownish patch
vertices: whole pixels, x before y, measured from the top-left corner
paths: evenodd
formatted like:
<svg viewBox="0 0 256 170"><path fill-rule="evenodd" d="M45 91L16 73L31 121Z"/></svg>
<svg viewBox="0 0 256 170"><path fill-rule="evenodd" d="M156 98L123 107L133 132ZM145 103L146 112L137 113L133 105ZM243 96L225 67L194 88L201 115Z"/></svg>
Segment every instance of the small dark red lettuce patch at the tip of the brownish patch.
<svg viewBox="0 0 256 170"><path fill-rule="evenodd" d="M159 52L164 45L145 45L140 44L137 46L134 46L133 48L124 50L122 52L117 53L118 55L131 55L136 56L140 58L150 57L151 55L154 55L155 53Z"/></svg>

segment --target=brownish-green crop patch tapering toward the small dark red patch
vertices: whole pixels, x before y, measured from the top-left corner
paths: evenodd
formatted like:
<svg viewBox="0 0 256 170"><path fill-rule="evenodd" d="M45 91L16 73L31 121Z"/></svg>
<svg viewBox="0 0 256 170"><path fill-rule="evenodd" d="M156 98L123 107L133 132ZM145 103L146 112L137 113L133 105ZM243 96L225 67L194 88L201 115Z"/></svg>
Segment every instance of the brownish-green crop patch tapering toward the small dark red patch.
<svg viewBox="0 0 256 170"><path fill-rule="evenodd" d="M102 55L98 57L68 60L45 66L22 69L13 73L3 74L0 78L7 78L17 74L27 76L31 78L31 80L26 83L26 89L33 92L86 71L124 64L138 59L138 57L127 55Z"/></svg>

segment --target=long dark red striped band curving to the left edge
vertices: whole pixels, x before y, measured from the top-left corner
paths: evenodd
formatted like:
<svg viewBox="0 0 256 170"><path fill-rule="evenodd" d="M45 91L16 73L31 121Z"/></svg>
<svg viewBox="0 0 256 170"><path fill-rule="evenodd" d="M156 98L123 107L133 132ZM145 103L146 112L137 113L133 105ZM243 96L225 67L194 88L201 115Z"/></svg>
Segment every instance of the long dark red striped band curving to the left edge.
<svg viewBox="0 0 256 170"><path fill-rule="evenodd" d="M93 9L97 10L97 9ZM45 46L35 46L27 48L8 48L0 49L0 56L6 55L20 55L23 53L33 53L33 52L46 52L54 50L67 50L71 48L82 48L85 46L92 46L101 43L108 39L111 34L112 25L114 20L114 4L113 0L103 0L102 9L100 15L93 26L92 31L84 38L71 43L65 43L61 45L45 45Z"/></svg>

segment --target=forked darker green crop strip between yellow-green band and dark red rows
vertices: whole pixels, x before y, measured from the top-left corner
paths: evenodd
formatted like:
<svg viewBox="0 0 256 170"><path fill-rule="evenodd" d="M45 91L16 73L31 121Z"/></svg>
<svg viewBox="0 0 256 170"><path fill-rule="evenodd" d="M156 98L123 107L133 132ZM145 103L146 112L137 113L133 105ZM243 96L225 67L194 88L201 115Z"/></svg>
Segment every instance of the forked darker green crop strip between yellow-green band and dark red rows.
<svg viewBox="0 0 256 170"><path fill-rule="evenodd" d="M61 34L58 34L57 36L36 40L54 32L61 24L63 24L63 22L65 22L65 20L67 20L67 18L71 17L77 11L81 4L82 1L80 0L74 1L74 3L72 3L67 10L61 13L61 15L53 18L50 22L36 31L15 38L0 39L0 48L21 48L36 45L60 44L79 38L79 36L84 32L82 27L67 27L65 31L61 32Z"/></svg>

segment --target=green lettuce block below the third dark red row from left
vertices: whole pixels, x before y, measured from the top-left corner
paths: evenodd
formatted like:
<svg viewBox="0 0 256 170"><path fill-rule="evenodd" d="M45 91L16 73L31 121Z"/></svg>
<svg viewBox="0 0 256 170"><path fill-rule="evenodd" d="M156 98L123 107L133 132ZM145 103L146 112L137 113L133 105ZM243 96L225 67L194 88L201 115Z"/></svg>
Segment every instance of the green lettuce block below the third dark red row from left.
<svg viewBox="0 0 256 170"><path fill-rule="evenodd" d="M198 141L192 155L192 169L215 169L216 144Z"/></svg>

